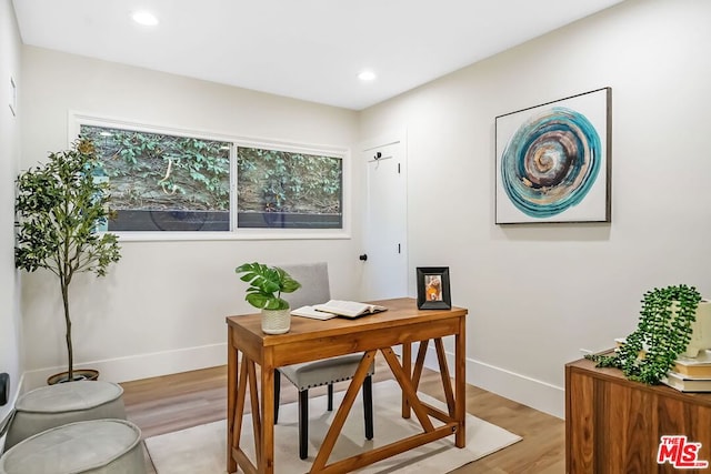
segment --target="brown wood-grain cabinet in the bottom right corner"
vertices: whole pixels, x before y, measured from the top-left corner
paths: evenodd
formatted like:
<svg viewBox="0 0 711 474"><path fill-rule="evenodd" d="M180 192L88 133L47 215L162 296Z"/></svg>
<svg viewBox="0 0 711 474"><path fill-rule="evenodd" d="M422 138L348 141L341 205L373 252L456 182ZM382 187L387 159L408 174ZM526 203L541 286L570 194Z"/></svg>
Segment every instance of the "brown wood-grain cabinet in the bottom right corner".
<svg viewBox="0 0 711 474"><path fill-rule="evenodd" d="M709 468L658 464L661 436L701 443ZM688 458L688 457L687 457ZM565 365L565 471L570 474L711 472L711 393L631 382L584 359Z"/></svg>

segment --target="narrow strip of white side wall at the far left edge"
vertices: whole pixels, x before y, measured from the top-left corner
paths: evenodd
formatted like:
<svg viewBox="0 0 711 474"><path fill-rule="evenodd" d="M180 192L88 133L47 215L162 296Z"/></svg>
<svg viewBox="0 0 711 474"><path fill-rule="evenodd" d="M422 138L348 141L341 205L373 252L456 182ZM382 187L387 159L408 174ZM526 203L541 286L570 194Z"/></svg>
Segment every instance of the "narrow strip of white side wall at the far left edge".
<svg viewBox="0 0 711 474"><path fill-rule="evenodd" d="M20 292L14 271L14 177L20 155L21 110L13 115L10 78L18 91L21 41L10 0L0 0L0 372L10 374L10 402L0 406L0 425L18 395L22 375ZM18 105L20 105L18 103ZM1 443L0 443L1 451Z"/></svg>

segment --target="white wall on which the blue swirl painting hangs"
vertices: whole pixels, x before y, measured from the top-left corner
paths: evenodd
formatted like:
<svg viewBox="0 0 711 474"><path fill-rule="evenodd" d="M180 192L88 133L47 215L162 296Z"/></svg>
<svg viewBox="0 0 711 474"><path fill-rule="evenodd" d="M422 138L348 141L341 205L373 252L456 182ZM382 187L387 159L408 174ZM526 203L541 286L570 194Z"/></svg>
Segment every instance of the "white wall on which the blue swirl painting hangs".
<svg viewBox="0 0 711 474"><path fill-rule="evenodd" d="M647 290L711 296L709 24L708 1L627 1L361 114L362 139L407 128L411 273L450 266L469 383L562 416L564 364ZM612 223L494 225L494 118L602 87Z"/></svg>

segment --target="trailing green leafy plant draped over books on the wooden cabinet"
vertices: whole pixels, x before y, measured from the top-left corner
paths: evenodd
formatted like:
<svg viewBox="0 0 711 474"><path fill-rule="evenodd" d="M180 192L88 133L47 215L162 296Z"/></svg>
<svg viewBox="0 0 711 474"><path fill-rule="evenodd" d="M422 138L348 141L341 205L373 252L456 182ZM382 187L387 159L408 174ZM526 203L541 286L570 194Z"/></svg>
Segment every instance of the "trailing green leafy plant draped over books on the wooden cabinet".
<svg viewBox="0 0 711 474"><path fill-rule="evenodd" d="M637 330L611 355L588 359L600 367L617 367L633 381L658 384L667 376L692 335L701 294L693 286L677 285L644 293Z"/></svg>

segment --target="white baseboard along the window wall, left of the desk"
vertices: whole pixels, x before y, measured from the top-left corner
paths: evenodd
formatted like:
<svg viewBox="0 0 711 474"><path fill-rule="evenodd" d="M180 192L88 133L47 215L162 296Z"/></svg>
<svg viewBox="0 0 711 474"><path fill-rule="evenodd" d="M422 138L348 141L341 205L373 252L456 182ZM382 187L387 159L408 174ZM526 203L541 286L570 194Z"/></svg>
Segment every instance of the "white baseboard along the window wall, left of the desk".
<svg viewBox="0 0 711 474"><path fill-rule="evenodd" d="M227 343L107 359L103 361L74 362L76 367L96 369L100 373L100 380L117 383L197 371L199 369L226 364ZM27 371L23 375L23 390L32 390L46 385L47 377L66 370L66 366L56 366Z"/></svg>

